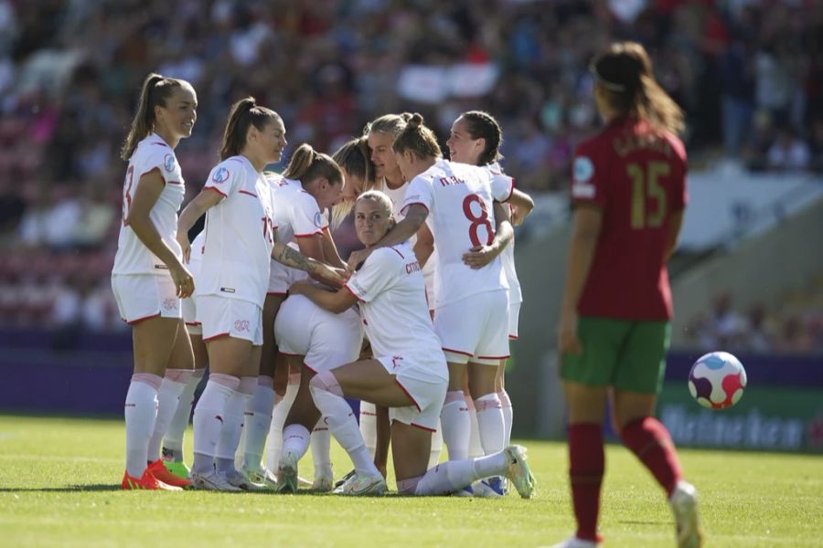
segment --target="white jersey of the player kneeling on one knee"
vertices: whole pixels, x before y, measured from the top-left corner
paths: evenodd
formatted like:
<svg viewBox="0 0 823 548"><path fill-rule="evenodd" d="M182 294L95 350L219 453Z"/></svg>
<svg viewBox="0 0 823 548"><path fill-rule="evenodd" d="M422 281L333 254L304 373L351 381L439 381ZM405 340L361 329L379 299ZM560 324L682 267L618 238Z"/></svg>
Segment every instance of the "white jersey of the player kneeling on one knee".
<svg viewBox="0 0 823 548"><path fill-rule="evenodd" d="M346 288L360 300L374 355L443 355L429 316L420 265L408 244L375 249ZM439 373L448 379L445 370Z"/></svg>

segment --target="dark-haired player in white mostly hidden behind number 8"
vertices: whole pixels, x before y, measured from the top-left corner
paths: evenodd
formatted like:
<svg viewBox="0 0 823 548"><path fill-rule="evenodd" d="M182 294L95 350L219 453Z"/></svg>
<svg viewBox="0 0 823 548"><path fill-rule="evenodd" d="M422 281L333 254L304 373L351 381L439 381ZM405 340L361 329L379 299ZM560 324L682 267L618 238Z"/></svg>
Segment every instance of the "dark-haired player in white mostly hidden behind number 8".
<svg viewBox="0 0 823 548"><path fill-rule="evenodd" d="M486 170L493 177L506 177L499 165L502 159L500 145L503 142L503 132L497 120L487 112L467 111L461 114L452 123L452 129L446 146L449 147L449 157L452 162L470 163L472 165L485 166ZM523 219L531 213L534 202L529 195L514 189L509 200L511 207L511 219L513 225L519 225ZM517 206L512 204L518 204ZM479 259L479 257L477 257ZM491 260L489 256L487 259ZM518 338L518 316L520 303L523 300L518 274L515 270L514 262L514 238L500 255L503 261L503 272L508 282L508 338L515 340ZM471 258L470 258L471 259ZM477 263L480 264L480 263ZM512 406L505 387L504 372L506 370L506 360L501 360L497 367L495 378L495 389L503 411L503 422L505 428L504 445L511 441ZM484 412L484 410L480 410ZM476 417L473 417L473 424ZM473 428L472 436L475 431ZM470 442L473 445L474 439ZM501 484L497 481L487 481L481 484L481 488L489 487L493 492L502 494ZM477 490L476 490L477 492Z"/></svg>

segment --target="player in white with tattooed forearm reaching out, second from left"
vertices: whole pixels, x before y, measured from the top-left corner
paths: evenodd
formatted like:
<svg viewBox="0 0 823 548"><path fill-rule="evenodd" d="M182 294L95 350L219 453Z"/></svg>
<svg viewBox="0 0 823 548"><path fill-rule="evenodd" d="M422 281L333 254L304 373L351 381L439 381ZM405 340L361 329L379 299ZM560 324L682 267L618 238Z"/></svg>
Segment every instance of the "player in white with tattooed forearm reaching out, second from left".
<svg viewBox="0 0 823 548"><path fill-rule="evenodd" d="M270 259L336 277L325 265L275 242L271 192L262 171L280 160L285 145L276 112L251 97L237 101L223 134L221 162L177 222L177 241L187 258L188 229L208 212L197 308L210 373L194 413L190 474L199 489L258 488L234 468L234 453L257 386Z"/></svg>

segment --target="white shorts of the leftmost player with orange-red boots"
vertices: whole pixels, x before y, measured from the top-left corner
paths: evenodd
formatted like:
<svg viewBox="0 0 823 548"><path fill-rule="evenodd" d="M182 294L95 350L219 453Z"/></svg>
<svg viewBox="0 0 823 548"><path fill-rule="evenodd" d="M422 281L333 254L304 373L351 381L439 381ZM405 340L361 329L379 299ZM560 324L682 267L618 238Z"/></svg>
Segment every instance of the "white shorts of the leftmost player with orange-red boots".
<svg viewBox="0 0 823 548"><path fill-rule="evenodd" d="M112 292L129 325L156 316L182 318L175 282L167 274L112 274Z"/></svg>

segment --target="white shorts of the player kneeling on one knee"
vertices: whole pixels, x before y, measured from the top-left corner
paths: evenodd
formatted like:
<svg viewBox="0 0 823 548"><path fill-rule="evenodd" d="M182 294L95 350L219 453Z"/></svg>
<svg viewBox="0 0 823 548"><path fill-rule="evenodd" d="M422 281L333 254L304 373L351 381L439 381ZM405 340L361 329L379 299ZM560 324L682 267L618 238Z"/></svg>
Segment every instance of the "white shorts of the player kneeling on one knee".
<svg viewBox="0 0 823 548"><path fill-rule="evenodd" d="M442 368L441 373L447 374L445 363L426 363L411 356L383 356L377 359L386 371L394 375L394 380L414 402L413 406L390 407L389 420L435 432L440 424L440 411L449 382L432 372L434 368Z"/></svg>

